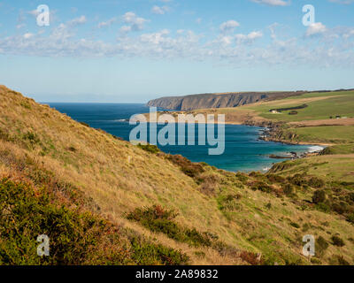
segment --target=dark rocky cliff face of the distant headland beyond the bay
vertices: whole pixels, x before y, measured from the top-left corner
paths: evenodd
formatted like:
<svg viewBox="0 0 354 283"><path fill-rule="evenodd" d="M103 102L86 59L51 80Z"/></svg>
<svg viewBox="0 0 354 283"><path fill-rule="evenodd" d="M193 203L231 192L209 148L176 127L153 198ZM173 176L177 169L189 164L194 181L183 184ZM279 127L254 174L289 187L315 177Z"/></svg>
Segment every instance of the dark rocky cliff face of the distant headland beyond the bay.
<svg viewBox="0 0 354 283"><path fill-rule="evenodd" d="M148 106L160 107L176 111L191 111L205 108L227 108L237 107L244 104L257 103L264 100L280 99L288 96L298 96L302 93L303 92L254 92L173 96L151 100L148 103Z"/></svg>

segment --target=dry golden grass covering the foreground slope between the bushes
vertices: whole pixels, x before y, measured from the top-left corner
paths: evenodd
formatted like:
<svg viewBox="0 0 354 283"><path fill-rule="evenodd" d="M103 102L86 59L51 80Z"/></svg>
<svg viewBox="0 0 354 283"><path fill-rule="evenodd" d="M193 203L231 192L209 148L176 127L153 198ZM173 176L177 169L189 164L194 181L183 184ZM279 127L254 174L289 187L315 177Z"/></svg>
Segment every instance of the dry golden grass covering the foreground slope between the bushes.
<svg viewBox="0 0 354 283"><path fill-rule="evenodd" d="M180 213L177 221L182 226L217 234L220 241L236 250L273 255L278 264L307 263L301 254L304 233L289 226L289 222L310 223L312 228L306 233L323 235L326 239L340 233L346 240L345 247L328 249L327 256L321 259L323 264L329 263L334 254L344 256L350 263L354 260L354 243L348 241L354 227L339 216L299 210L289 199L252 191L240 185L235 174L227 177L211 167L207 170L218 176L218 194L205 195L196 180L165 157L83 126L4 86L0 87L0 111L1 175L21 178L26 168L19 168L19 161L30 158L36 166L53 172L58 180L79 187L114 224L181 249L190 256L191 264L247 263L237 255L223 255L211 248L191 248L165 234L151 233L128 221L124 214L137 207L161 204ZM35 134L37 140L28 141L25 138L28 133ZM239 194L241 198L237 208L226 213L219 209L219 198L227 194ZM272 203L272 209L266 209L267 203ZM326 221L330 226L321 226ZM200 256L201 252L204 256Z"/></svg>

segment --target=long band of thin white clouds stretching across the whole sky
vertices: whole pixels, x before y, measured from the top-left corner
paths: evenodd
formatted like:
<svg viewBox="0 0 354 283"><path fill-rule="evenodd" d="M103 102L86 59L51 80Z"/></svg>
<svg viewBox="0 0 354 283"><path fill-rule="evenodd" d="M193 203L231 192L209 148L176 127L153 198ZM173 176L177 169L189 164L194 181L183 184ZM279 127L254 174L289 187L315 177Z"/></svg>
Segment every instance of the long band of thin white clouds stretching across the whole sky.
<svg viewBox="0 0 354 283"><path fill-rule="evenodd" d="M135 14L126 15L127 31L136 24ZM236 67L243 65L306 65L317 67L354 67L354 28L326 28L323 36L308 40L304 37L289 38L289 34L277 34L277 25L263 34L252 31L247 34L218 34L206 38L191 30L178 32L162 29L144 34L120 34L116 42L104 42L79 38L77 25L86 18L77 18L52 27L44 34L15 34L0 37L0 50L5 55L34 57L148 57L152 59L173 58L196 61L213 60ZM137 20L138 23L145 21ZM234 25L235 26L235 25ZM233 27L234 27L233 26ZM124 28L122 27L122 28ZM282 28L282 27L281 27ZM312 27L311 34L323 28ZM316 34L315 33L315 34ZM283 34L283 32L281 32ZM265 37L270 43L256 44ZM285 38L283 38L285 37Z"/></svg>

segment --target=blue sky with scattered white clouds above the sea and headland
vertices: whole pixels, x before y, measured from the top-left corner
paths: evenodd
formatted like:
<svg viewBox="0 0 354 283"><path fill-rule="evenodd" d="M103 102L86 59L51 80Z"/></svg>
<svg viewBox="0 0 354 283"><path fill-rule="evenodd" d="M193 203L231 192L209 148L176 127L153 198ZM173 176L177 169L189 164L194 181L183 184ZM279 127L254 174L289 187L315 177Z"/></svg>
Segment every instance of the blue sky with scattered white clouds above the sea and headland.
<svg viewBox="0 0 354 283"><path fill-rule="evenodd" d="M353 77L352 0L0 0L0 84L37 101L354 88Z"/></svg>

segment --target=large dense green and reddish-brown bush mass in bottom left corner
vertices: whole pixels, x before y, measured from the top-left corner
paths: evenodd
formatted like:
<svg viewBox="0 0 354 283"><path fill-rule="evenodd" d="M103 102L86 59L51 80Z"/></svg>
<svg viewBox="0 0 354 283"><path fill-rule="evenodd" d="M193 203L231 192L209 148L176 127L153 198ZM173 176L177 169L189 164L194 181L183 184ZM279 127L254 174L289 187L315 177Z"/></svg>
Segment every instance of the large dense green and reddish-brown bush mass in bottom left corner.
<svg viewBox="0 0 354 283"><path fill-rule="evenodd" d="M59 186L59 185L58 185ZM61 186L61 185L60 185ZM0 264L188 264L179 250L150 243L137 235L123 236L89 211L68 209L43 186L0 180ZM164 218L173 215L166 211ZM157 217L159 214L157 214ZM127 231L124 231L127 233ZM37 236L50 239L50 256L38 256Z"/></svg>

